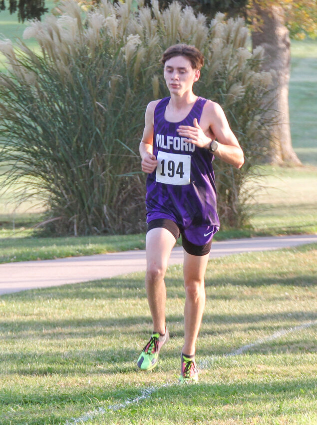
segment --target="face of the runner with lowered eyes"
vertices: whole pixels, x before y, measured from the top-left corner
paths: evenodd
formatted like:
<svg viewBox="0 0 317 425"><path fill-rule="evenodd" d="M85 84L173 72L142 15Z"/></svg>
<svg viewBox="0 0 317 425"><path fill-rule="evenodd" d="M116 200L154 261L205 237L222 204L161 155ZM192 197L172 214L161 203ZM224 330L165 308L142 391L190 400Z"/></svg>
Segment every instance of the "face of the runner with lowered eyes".
<svg viewBox="0 0 317 425"><path fill-rule="evenodd" d="M181 96L191 91L193 84L200 77L200 71L194 70L189 59L174 56L164 65L164 78L170 93Z"/></svg>

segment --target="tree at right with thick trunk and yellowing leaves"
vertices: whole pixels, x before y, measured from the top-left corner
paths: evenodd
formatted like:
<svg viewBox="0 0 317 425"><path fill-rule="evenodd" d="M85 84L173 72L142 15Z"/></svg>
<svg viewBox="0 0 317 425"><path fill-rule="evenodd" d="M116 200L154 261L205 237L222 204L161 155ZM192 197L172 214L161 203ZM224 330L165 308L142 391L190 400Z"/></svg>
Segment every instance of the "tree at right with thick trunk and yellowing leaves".
<svg viewBox="0 0 317 425"><path fill-rule="evenodd" d="M248 14L252 22L252 46L264 49L263 69L275 71L271 92L275 124L271 130L269 160L278 164L301 164L292 148L290 129L290 33L297 38L316 36L316 1L254 0Z"/></svg>

